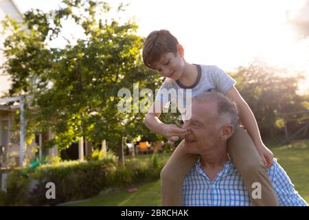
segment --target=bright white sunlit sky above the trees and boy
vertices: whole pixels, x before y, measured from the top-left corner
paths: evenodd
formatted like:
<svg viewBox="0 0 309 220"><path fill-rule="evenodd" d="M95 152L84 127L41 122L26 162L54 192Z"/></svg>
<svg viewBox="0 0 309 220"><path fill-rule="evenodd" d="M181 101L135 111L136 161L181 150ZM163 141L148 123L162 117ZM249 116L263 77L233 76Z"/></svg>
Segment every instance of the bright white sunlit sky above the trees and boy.
<svg viewBox="0 0 309 220"><path fill-rule="evenodd" d="M51 10L60 0L15 0L22 12L30 8ZM309 39L299 41L285 25L286 10L297 12L305 0L108 0L111 5L130 3L125 12L112 14L120 21L135 18L137 34L168 29L185 48L189 63L218 65L232 71L252 61L304 71L300 85L309 88ZM308 13L309 14L309 13ZM309 18L308 18L309 19ZM82 36L68 22L63 35ZM61 46L64 41L55 41ZM291 71L293 73L293 71Z"/></svg>

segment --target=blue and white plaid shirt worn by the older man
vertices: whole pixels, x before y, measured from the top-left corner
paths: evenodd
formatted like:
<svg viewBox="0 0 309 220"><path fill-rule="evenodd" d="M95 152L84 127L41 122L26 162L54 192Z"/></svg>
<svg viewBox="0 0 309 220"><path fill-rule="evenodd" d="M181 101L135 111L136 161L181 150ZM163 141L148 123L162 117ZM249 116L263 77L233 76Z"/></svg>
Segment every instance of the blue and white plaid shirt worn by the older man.
<svg viewBox="0 0 309 220"><path fill-rule="evenodd" d="M268 168L279 206L308 206L294 189L284 169L274 159ZM213 181L207 177L198 159L183 181L184 206L251 206L249 193L233 162L225 163Z"/></svg>

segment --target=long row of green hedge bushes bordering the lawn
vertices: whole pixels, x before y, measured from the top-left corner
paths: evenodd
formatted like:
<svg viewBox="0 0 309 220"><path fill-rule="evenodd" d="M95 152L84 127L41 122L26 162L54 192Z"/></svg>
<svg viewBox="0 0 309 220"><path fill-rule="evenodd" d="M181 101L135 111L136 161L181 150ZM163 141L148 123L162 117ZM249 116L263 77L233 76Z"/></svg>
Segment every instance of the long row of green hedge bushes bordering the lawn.
<svg viewBox="0 0 309 220"><path fill-rule="evenodd" d="M43 164L35 169L15 170L8 176L5 203L8 205L51 205L86 199L111 187L129 186L145 179L159 178L163 167L159 155L151 158L132 158L126 166L115 159L89 162L60 162ZM53 182L56 199L47 199L45 186Z"/></svg>

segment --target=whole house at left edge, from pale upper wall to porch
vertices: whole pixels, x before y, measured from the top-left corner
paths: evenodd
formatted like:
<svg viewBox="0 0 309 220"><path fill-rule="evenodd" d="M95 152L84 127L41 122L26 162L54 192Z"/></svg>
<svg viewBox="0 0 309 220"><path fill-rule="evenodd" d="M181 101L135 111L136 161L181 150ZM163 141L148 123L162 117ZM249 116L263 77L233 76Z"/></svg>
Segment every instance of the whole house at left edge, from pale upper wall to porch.
<svg viewBox="0 0 309 220"><path fill-rule="evenodd" d="M10 15L17 21L23 19L23 13L14 0L0 0L0 21L3 21L6 15ZM0 31L2 32L2 26ZM0 65L5 62L3 42L8 34L0 34ZM3 72L0 72L0 167L20 166L25 162L25 159L30 159L35 155L34 150L36 148L38 148L38 157L42 157L42 155L58 155L56 146L46 152L39 147L42 146L43 142L52 138L50 132L36 135L35 140L25 148L25 126L21 126L20 130L14 130L14 115L18 109L21 109L21 97L3 98L5 93L8 93L9 88L10 78L3 76ZM21 124L25 125L26 120L21 118L21 122L23 122ZM23 152L22 157L21 152Z"/></svg>

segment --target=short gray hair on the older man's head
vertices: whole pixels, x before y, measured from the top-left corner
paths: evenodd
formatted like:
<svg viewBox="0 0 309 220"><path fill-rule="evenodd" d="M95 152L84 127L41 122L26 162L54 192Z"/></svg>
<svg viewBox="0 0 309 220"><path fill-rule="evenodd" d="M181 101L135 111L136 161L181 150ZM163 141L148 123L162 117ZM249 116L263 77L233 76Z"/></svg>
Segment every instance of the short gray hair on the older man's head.
<svg viewBox="0 0 309 220"><path fill-rule="evenodd" d="M198 96L192 98L192 102L197 101L198 103L205 103L209 101L217 102L218 107L218 120L220 126L223 124L232 124L234 126L234 131L236 126L238 126L238 109L236 103L227 98L227 96L219 93L218 91L207 91Z"/></svg>

